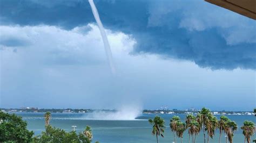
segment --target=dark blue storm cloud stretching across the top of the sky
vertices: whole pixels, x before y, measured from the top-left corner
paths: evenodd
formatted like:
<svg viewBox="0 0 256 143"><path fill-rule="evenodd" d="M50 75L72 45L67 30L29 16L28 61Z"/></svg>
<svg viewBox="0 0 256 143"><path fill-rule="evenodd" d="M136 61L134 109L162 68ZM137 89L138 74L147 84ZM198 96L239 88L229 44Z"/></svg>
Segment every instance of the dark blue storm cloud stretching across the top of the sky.
<svg viewBox="0 0 256 143"><path fill-rule="evenodd" d="M1 1L2 25L95 22L87 1ZM132 34L133 54L184 59L211 69L256 69L254 20L199 1L96 1L106 28Z"/></svg>

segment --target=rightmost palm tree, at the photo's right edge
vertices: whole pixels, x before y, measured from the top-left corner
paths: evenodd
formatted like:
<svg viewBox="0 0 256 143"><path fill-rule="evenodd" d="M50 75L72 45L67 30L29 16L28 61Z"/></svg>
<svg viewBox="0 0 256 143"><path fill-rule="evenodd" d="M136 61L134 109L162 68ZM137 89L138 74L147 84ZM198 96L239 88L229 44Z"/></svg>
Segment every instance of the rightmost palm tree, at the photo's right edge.
<svg viewBox="0 0 256 143"><path fill-rule="evenodd" d="M244 121L244 125L241 126L242 134L245 135L245 142L247 140L247 143L250 143L251 141L251 136L254 134L255 131L255 127L254 127L254 123L252 121Z"/></svg>

